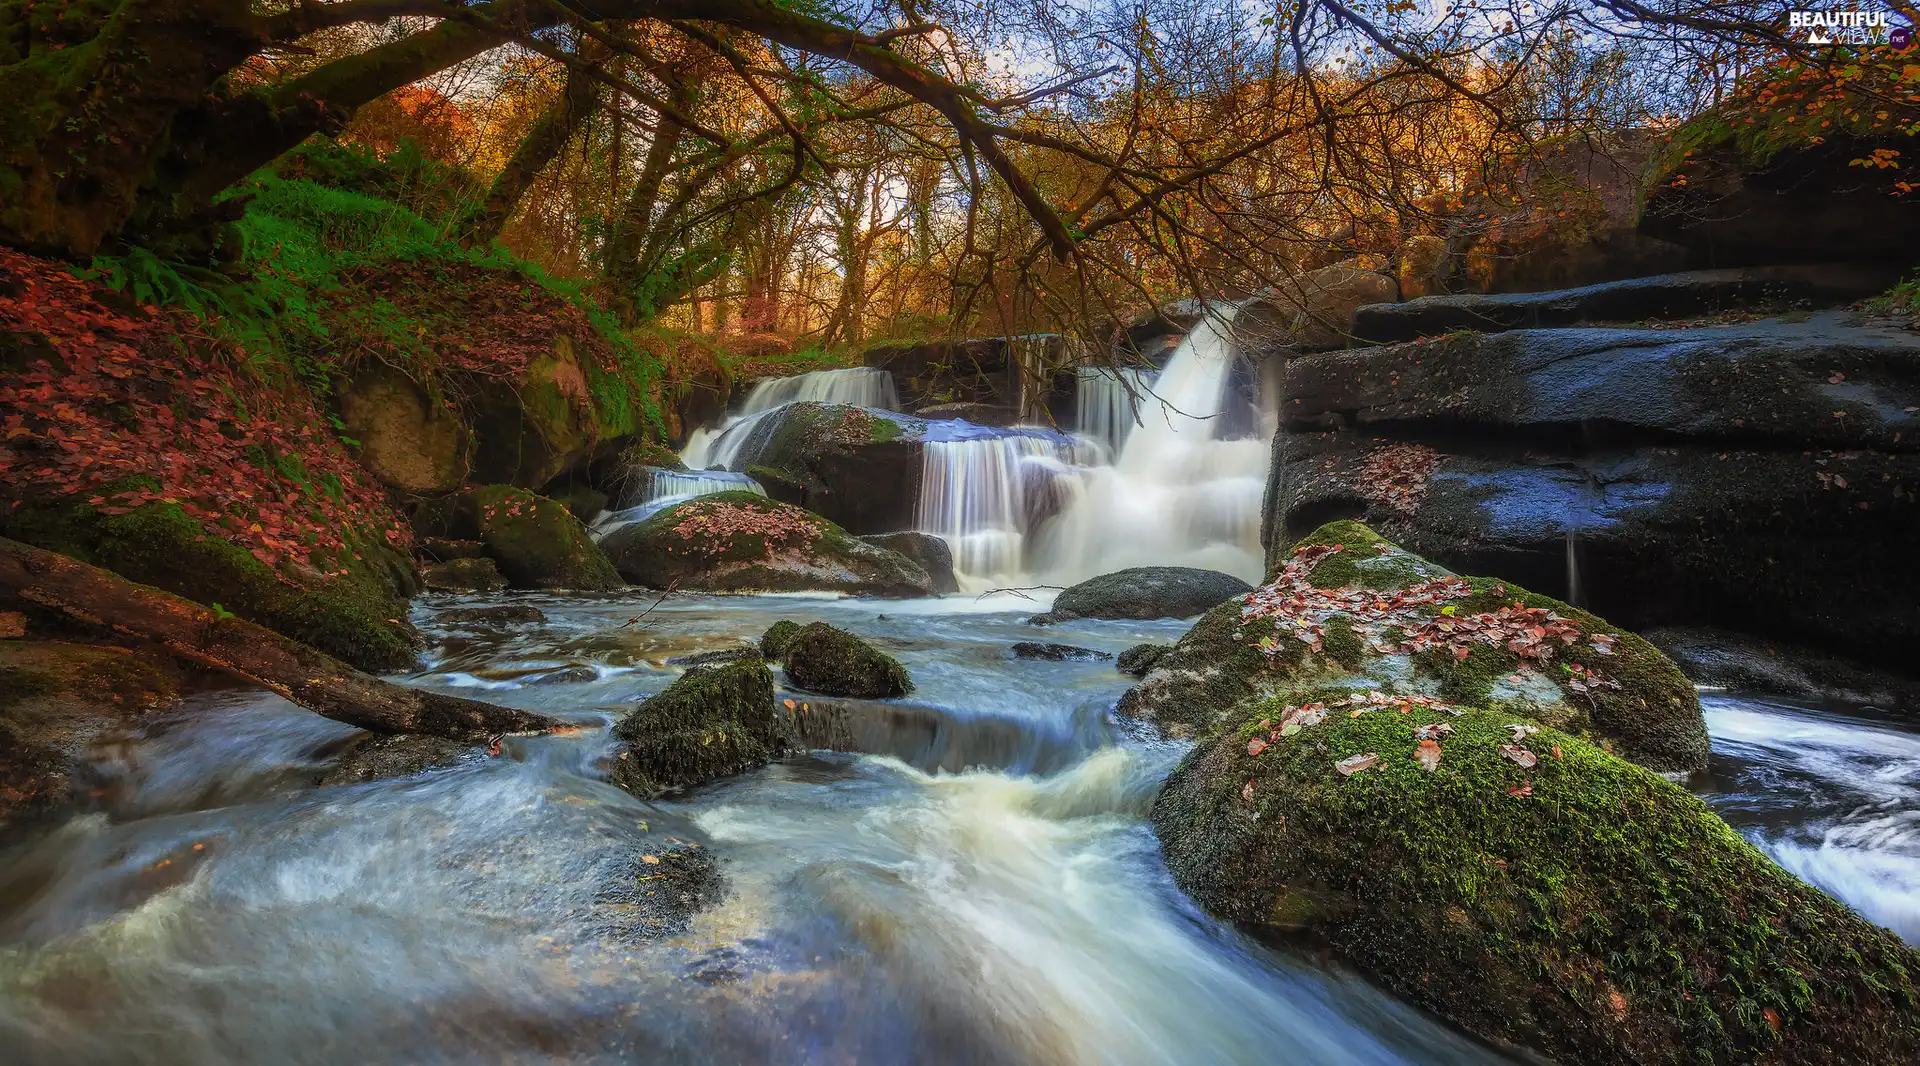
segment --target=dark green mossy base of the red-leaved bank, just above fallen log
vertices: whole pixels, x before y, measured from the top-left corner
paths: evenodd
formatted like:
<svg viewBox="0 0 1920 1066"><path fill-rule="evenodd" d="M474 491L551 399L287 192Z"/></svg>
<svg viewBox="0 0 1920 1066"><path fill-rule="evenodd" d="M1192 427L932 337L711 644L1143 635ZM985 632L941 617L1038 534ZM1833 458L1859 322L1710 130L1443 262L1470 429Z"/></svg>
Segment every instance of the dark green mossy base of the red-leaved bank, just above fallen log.
<svg viewBox="0 0 1920 1066"><path fill-rule="evenodd" d="M27 503L0 515L0 534L219 605L361 670L399 670L420 643L405 620L413 567L386 545L353 544L338 572L313 574L309 588L209 534L177 503L125 515L88 503Z"/></svg>

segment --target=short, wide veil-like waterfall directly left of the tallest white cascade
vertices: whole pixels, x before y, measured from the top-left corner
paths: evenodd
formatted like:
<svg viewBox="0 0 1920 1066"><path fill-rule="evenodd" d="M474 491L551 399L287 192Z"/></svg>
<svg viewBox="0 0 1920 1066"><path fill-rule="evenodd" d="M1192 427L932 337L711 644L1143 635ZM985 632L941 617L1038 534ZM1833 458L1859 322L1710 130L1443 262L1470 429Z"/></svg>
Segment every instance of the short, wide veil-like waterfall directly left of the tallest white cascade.
<svg viewBox="0 0 1920 1066"><path fill-rule="evenodd" d="M929 440L914 528L947 542L962 590L1020 584L1027 536L1087 459L1085 446L1054 434Z"/></svg>

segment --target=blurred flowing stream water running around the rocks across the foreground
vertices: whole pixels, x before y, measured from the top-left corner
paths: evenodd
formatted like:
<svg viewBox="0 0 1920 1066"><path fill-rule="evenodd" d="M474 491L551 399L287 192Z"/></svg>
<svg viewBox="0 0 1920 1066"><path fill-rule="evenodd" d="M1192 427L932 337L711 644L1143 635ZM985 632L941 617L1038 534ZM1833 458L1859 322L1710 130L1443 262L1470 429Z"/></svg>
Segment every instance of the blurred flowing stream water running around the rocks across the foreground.
<svg viewBox="0 0 1920 1066"><path fill-rule="evenodd" d="M543 624L449 628L453 605ZM351 730L207 693L102 753L98 811L0 851L0 1047L40 1064L1482 1064L1501 1056L1171 885L1146 822L1179 745L1110 718L1106 661L1183 622L1000 595L422 601L413 684L584 728L415 778L313 787ZM806 753L645 803L605 726L676 655L824 618L918 690ZM1044 634L1044 636L1043 636ZM1770 853L1916 935L1920 738L1713 695L1707 795ZM645 857L705 843L728 893L636 935Z"/></svg>

